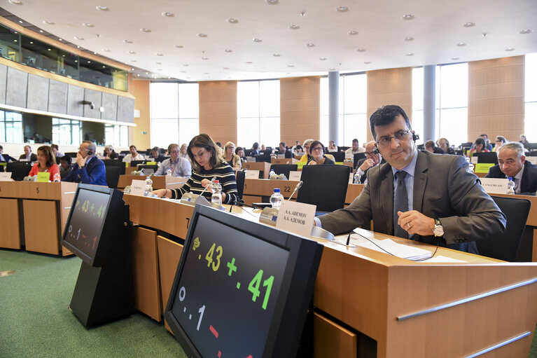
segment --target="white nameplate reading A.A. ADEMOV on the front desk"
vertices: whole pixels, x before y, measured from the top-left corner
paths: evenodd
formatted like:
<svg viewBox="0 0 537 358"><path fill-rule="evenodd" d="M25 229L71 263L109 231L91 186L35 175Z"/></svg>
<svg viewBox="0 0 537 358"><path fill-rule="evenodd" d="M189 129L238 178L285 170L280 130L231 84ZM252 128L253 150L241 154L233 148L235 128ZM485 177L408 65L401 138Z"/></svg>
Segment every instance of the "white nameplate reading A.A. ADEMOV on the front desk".
<svg viewBox="0 0 537 358"><path fill-rule="evenodd" d="M297 235L309 237L312 233L316 205L284 200L279 207L276 227Z"/></svg>

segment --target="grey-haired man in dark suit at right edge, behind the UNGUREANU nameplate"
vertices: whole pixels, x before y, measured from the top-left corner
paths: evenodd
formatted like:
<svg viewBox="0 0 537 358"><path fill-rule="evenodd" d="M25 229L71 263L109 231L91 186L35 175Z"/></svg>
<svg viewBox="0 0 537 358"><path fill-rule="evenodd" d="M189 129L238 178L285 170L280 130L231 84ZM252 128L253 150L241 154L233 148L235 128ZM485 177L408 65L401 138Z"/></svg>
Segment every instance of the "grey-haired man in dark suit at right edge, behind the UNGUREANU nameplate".
<svg viewBox="0 0 537 358"><path fill-rule="evenodd" d="M498 149L498 165L489 169L485 178L512 177L515 194L535 195L537 191L537 166L524 156L524 146L519 142L503 144Z"/></svg>

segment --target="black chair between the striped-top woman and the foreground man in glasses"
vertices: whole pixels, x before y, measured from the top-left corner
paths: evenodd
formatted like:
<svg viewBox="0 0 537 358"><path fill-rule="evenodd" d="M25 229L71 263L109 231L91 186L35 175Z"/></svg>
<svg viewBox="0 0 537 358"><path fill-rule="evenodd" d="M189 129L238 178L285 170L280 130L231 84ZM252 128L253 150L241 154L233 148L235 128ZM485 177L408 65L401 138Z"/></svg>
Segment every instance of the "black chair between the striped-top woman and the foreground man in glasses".
<svg viewBox="0 0 537 358"><path fill-rule="evenodd" d="M317 205L317 214L333 212L345 204L351 167L347 165L305 165L300 177L304 184L296 201Z"/></svg>

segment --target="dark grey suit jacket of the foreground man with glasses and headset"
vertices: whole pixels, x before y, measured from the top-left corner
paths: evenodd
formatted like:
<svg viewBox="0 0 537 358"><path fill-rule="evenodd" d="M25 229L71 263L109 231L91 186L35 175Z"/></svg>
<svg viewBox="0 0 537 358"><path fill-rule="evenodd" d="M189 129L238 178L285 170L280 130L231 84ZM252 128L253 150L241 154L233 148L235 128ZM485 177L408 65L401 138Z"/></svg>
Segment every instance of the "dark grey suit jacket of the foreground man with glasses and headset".
<svg viewBox="0 0 537 358"><path fill-rule="evenodd" d="M413 240L477 253L474 240L503 233L505 215L484 192L479 178L468 172L462 156L419 151L414 172L413 209L444 227L443 240L414 235ZM471 214L471 217L470 217ZM368 172L368 184L344 209L319 216L323 228L345 233L372 219L375 231L393 235L393 172L388 163Z"/></svg>

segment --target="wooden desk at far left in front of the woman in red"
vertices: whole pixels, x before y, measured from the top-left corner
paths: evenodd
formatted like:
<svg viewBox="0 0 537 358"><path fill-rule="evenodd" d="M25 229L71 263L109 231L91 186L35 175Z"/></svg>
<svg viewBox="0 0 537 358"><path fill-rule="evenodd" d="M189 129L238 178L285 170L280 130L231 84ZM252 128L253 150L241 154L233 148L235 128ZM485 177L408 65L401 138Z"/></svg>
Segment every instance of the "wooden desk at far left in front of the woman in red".
<svg viewBox="0 0 537 358"><path fill-rule="evenodd" d="M60 246L76 183L0 181L0 212L8 219L0 230L0 247L64 256ZM61 252L60 252L61 247Z"/></svg>

